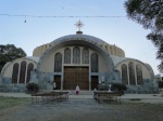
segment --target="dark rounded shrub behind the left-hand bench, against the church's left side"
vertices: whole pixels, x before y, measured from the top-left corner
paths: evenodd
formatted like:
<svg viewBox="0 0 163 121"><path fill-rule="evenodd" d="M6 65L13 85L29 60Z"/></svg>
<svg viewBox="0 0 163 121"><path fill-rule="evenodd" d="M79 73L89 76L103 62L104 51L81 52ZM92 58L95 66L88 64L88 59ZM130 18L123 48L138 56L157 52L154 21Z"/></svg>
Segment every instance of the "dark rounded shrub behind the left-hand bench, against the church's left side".
<svg viewBox="0 0 163 121"><path fill-rule="evenodd" d="M28 93L36 93L39 91L38 84L36 84L36 83L28 83L26 85L26 89L27 89Z"/></svg>

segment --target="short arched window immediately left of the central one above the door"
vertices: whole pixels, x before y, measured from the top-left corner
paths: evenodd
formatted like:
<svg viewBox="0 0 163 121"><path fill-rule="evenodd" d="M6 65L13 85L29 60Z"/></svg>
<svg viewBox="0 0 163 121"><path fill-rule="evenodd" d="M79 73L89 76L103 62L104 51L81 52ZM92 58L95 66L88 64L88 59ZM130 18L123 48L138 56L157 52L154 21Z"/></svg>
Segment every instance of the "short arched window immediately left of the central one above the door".
<svg viewBox="0 0 163 121"><path fill-rule="evenodd" d="M66 48L64 50L64 64L71 64L71 49Z"/></svg>

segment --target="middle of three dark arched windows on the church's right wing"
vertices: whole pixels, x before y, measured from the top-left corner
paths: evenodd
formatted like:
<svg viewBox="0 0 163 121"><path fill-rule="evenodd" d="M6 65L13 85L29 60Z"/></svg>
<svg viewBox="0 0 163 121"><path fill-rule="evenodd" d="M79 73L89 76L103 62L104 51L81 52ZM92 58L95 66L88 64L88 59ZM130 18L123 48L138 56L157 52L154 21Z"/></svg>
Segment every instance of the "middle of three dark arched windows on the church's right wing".
<svg viewBox="0 0 163 121"><path fill-rule="evenodd" d="M134 69L134 63L133 62L130 62L128 64L128 70L129 70L129 84L136 84L135 69Z"/></svg>

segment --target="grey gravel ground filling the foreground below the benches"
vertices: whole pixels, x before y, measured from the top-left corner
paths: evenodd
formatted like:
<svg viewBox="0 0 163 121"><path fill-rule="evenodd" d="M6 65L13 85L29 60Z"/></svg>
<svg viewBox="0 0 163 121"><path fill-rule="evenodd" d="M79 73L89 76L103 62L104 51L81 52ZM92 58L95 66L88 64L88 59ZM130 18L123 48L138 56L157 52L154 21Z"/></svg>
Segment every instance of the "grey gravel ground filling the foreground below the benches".
<svg viewBox="0 0 163 121"><path fill-rule="evenodd" d="M99 104L68 99L25 104L0 111L0 121L163 121L163 105L140 103Z"/></svg>

